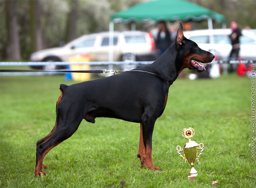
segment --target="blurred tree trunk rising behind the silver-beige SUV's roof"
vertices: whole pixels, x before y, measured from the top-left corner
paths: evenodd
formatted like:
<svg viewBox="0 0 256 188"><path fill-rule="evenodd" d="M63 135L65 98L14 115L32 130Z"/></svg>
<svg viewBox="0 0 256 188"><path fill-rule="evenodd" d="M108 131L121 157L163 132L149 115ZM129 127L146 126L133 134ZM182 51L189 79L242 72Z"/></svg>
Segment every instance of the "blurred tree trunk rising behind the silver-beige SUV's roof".
<svg viewBox="0 0 256 188"><path fill-rule="evenodd" d="M78 1L72 0L70 4L71 11L68 14L66 42L77 37Z"/></svg>

